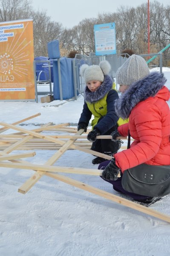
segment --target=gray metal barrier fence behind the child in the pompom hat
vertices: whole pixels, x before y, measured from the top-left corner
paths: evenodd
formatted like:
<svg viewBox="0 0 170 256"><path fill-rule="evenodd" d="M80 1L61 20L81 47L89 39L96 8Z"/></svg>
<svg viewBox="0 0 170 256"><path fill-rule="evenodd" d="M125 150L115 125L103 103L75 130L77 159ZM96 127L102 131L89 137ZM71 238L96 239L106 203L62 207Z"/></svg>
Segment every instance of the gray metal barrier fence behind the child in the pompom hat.
<svg viewBox="0 0 170 256"><path fill-rule="evenodd" d="M116 71L122 64L127 60L126 57L122 57L121 55L104 55L104 56L96 56L94 52L91 52L89 56L76 54L73 59L73 76L74 76L74 86L75 86L75 99L77 98L78 93L84 96L84 88L86 86L84 79L80 76L80 67L83 64L87 65L98 65L100 61L107 60L111 65L110 75L115 77Z"/></svg>

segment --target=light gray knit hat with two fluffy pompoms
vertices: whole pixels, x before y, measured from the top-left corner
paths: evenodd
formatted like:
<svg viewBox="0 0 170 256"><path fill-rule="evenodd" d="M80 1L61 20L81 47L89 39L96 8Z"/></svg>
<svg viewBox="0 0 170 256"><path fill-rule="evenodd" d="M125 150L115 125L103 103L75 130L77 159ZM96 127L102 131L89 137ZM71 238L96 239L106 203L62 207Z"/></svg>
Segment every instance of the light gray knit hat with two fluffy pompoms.
<svg viewBox="0 0 170 256"><path fill-rule="evenodd" d="M83 64L80 67L80 75L84 77L85 83L92 80L97 80L100 82L104 81L104 75L108 75L111 70L111 66L108 61L101 61L99 65L89 66Z"/></svg>

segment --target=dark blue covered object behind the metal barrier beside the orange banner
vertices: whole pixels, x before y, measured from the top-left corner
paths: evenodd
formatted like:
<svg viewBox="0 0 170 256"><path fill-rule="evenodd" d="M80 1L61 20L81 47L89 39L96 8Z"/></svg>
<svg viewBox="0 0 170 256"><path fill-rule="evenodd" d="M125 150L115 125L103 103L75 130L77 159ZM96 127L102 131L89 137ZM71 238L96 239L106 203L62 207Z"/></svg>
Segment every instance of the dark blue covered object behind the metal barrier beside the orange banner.
<svg viewBox="0 0 170 256"><path fill-rule="evenodd" d="M50 60L48 57L44 57L44 56L38 56L36 58L34 58L34 60L36 61L50 61L51 65L53 64L53 61ZM48 63L45 62L37 62L36 63L36 75L37 75L37 80L38 80L38 76L40 74L39 77L39 81L43 81L43 80L49 80L49 67L45 67L48 66ZM53 82L54 78L53 78L53 67L51 67L51 81Z"/></svg>

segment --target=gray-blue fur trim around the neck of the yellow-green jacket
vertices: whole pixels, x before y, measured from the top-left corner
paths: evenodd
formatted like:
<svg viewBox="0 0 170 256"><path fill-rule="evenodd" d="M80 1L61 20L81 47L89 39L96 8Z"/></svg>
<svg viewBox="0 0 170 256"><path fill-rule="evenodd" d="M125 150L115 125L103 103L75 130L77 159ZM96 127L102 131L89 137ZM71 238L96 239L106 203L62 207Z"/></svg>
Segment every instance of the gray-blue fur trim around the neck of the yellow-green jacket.
<svg viewBox="0 0 170 256"><path fill-rule="evenodd" d="M84 89L84 99L86 102L97 102L102 99L109 90L112 89L113 80L109 75L104 76L104 81L101 86L98 87L98 90L95 92L91 92L89 88L86 86Z"/></svg>

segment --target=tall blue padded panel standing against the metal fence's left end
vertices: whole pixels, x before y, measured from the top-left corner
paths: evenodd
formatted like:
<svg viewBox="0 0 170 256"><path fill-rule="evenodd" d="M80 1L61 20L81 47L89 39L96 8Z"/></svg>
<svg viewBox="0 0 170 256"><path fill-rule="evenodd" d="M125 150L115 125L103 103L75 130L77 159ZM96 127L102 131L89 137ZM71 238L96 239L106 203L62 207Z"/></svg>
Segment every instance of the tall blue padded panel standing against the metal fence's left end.
<svg viewBox="0 0 170 256"><path fill-rule="evenodd" d="M72 58L64 58L64 57L60 58L60 67L61 67L61 85L62 85L63 99L71 99L75 97ZM54 71L53 93L54 93L54 99L57 100L57 99L61 99L59 79L58 79L58 61L53 61L53 71Z"/></svg>

